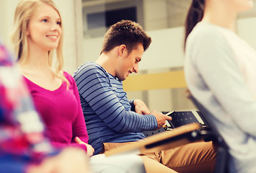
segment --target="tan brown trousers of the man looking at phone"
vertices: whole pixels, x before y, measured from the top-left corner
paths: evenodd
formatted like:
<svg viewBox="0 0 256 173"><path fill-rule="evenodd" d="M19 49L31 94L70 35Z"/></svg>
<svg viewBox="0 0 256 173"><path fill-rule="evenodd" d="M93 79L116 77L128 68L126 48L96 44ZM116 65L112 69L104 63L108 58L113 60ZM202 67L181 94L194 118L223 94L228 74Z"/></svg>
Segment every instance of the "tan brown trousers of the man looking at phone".
<svg viewBox="0 0 256 173"><path fill-rule="evenodd" d="M103 143L110 150L127 143ZM189 143L165 151L141 152L147 173L151 172L213 172L216 162L216 146L212 142Z"/></svg>

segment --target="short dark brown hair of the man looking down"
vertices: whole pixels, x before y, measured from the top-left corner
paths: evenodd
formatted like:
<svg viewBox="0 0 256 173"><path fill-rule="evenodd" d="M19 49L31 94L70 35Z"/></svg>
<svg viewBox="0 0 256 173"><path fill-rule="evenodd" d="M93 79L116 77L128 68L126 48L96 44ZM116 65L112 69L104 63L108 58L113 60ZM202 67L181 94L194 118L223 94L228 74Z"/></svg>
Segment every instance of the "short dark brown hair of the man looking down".
<svg viewBox="0 0 256 173"><path fill-rule="evenodd" d="M104 36L103 46L100 54L108 52L118 45L126 45L128 53L141 43L144 51L151 44L151 37L146 34L141 25L131 20L122 20L110 26Z"/></svg>

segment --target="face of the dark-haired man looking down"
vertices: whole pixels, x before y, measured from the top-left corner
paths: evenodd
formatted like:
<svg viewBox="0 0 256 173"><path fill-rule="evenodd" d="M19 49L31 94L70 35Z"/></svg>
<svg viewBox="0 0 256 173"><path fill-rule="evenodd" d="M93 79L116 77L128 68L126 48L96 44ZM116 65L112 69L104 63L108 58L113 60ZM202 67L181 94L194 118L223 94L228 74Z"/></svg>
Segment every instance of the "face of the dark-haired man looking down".
<svg viewBox="0 0 256 173"><path fill-rule="evenodd" d="M144 53L144 47L141 43L134 48L131 53L128 53L127 48L123 50L123 56L118 60L118 65L115 69L115 76L124 81L129 74L138 73L138 63L141 61Z"/></svg>

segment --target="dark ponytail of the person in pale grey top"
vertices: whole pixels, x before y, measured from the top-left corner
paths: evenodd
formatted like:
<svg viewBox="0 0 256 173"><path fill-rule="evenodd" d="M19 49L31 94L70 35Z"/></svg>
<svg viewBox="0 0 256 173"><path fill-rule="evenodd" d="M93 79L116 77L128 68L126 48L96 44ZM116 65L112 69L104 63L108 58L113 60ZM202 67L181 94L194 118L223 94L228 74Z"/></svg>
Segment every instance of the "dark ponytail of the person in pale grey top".
<svg viewBox="0 0 256 173"><path fill-rule="evenodd" d="M205 7L205 0L193 0L190 4L190 8L187 12L185 20L185 41L184 47L187 41L187 36L193 30L195 25L203 19L203 12Z"/></svg>

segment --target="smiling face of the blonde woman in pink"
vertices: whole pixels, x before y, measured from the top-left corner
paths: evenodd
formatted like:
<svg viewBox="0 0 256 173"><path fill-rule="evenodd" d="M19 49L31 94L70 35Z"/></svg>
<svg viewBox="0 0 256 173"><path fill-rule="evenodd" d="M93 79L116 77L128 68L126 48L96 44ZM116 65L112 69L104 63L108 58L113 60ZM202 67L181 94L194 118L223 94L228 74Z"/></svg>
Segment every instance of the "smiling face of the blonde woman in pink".
<svg viewBox="0 0 256 173"><path fill-rule="evenodd" d="M62 35L61 17L53 6L43 4L30 19L27 26L30 48L53 50L58 47Z"/></svg>

